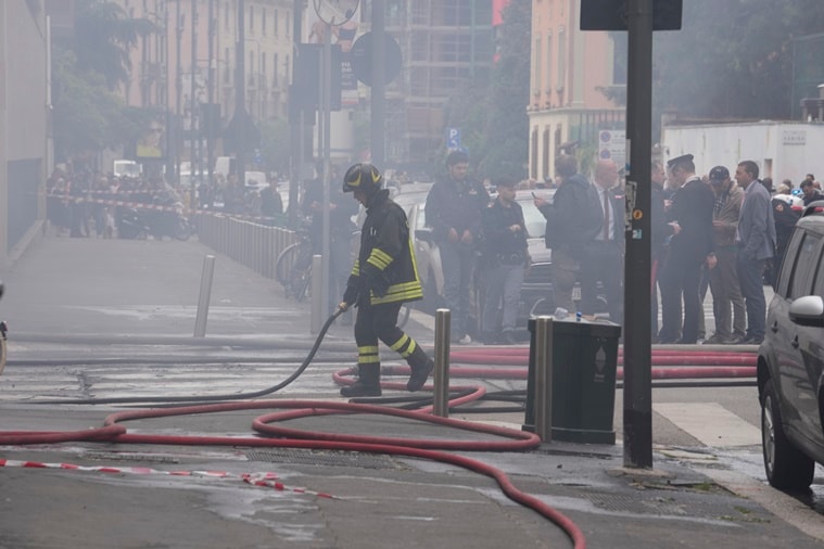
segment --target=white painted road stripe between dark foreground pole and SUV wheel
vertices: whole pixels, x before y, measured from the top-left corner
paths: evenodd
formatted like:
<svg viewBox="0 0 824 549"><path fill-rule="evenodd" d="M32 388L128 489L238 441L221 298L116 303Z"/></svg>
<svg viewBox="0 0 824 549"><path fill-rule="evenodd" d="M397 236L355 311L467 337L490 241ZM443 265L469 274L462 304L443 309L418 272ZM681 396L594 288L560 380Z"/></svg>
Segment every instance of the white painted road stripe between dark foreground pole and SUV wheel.
<svg viewBox="0 0 824 549"><path fill-rule="evenodd" d="M712 447L761 444L761 430L718 403L657 403L652 410Z"/></svg>

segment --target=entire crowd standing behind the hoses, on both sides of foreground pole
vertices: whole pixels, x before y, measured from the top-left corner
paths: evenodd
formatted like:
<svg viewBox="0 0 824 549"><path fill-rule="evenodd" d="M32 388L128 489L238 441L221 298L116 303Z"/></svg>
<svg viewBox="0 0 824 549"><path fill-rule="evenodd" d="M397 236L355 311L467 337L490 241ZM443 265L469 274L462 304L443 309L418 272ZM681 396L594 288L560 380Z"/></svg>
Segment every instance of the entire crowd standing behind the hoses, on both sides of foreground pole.
<svg viewBox="0 0 824 549"><path fill-rule="evenodd" d="M530 266L523 212L515 201L518 184L506 178L494 181L497 195L490 202L487 186L469 176L468 167L466 153L451 153L426 204L427 225L441 251L452 340L515 343L520 290ZM534 206L546 219L556 314L606 312L623 323L624 190L618 167L598 159L590 179L579 173L574 156L562 155L549 187L556 188L553 200L536 196ZM655 162L650 187L652 342L761 343L764 284L776 277L800 217L794 204L798 197L803 205L824 200L820 183L810 174L797 189L789 180L773 189L769 178L759 178L752 161L741 161L732 174L715 166L700 176L687 154L665 166ZM483 278L485 295L478 330L470 335L474 277ZM575 286L580 299L573 299ZM711 334L702 305L708 290Z"/></svg>

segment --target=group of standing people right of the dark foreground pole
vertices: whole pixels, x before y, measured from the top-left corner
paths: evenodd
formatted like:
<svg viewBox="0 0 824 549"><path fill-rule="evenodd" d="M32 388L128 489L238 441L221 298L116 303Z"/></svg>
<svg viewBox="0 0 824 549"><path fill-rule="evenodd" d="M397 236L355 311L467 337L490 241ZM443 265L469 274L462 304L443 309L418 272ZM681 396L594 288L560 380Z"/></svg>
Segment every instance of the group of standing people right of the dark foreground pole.
<svg viewBox="0 0 824 549"><path fill-rule="evenodd" d="M661 295L661 327L652 302L654 342L760 344L764 339L764 283L777 276L800 217L794 186L759 178L753 161L731 173L714 166L696 174L690 154L652 165L652 281ZM812 174L795 194L821 200ZM655 289L655 285L654 285ZM712 295L714 332L707 334L702 303ZM656 292L652 292L656 296ZM683 314L682 314L683 307Z"/></svg>

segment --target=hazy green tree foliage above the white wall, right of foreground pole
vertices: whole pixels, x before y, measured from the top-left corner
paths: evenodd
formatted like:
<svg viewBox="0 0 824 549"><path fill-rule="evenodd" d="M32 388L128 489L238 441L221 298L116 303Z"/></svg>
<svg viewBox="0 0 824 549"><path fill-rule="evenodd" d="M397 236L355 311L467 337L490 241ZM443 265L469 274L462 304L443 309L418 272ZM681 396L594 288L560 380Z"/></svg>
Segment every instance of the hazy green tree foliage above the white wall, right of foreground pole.
<svg viewBox="0 0 824 549"><path fill-rule="evenodd" d="M654 37L654 113L790 118L793 39L824 31L821 0L690 0ZM688 54L685 54L688 52Z"/></svg>

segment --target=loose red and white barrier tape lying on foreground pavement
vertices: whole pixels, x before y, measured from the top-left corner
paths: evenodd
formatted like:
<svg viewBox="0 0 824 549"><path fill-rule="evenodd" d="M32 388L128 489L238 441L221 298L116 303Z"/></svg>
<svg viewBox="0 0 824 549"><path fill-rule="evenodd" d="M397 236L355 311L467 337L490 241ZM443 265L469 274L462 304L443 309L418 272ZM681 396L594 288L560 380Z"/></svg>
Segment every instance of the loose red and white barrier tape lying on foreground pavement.
<svg viewBox="0 0 824 549"><path fill-rule="evenodd" d="M148 467L103 467L103 465L77 465L73 463L45 463L40 461L22 461L14 459L0 459L0 468L23 469L61 469L64 471L84 471L94 473L119 473L119 474L155 474L167 476L192 476L199 478L238 478L246 484L258 487L274 488L278 491L292 491L294 494L307 494L326 499L339 499L330 494L314 491L306 488L290 487L278 481L277 473L241 473L234 474L228 471L161 471Z"/></svg>

